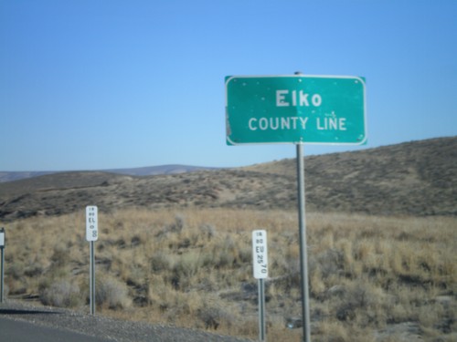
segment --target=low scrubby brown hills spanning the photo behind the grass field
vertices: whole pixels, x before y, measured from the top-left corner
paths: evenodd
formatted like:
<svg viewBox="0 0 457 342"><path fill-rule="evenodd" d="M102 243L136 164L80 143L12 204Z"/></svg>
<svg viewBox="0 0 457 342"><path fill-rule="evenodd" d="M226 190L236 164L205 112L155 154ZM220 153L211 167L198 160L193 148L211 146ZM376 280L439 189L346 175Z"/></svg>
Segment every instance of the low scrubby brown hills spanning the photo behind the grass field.
<svg viewBox="0 0 457 342"><path fill-rule="evenodd" d="M305 158L306 208L396 215L457 214L457 137ZM60 172L0 183L0 219L98 205L296 208L295 160L152 176Z"/></svg>

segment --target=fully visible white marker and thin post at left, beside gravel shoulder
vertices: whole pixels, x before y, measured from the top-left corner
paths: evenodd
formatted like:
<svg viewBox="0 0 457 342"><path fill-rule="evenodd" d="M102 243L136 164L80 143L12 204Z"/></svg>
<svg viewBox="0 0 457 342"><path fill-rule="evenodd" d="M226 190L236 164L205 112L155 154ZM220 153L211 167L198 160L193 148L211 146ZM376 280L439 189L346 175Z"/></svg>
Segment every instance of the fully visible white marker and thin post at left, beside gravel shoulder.
<svg viewBox="0 0 457 342"><path fill-rule="evenodd" d="M99 215L95 205L86 207L86 240L90 242L90 315L95 315L94 242L99 238Z"/></svg>

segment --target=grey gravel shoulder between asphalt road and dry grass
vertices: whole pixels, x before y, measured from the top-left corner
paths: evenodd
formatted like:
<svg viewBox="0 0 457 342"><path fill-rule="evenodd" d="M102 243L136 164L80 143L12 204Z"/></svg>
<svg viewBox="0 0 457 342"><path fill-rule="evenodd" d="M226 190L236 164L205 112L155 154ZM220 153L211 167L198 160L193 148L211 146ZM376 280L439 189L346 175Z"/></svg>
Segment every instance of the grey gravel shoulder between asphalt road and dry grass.
<svg viewBox="0 0 457 342"><path fill-rule="evenodd" d="M0 304L0 316L24 320L40 326L78 332L90 337L103 337L118 342L249 342L250 339L219 336L204 331L174 326L127 322L106 316L88 314L63 308L33 306L8 299Z"/></svg>

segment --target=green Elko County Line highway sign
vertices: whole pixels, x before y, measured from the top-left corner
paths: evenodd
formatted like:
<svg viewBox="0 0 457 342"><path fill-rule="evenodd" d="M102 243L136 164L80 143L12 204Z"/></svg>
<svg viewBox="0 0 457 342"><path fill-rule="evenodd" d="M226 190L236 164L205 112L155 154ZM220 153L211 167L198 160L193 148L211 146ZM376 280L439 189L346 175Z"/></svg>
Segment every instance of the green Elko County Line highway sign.
<svg viewBox="0 0 457 342"><path fill-rule="evenodd" d="M367 143L365 78L226 78L228 145Z"/></svg>

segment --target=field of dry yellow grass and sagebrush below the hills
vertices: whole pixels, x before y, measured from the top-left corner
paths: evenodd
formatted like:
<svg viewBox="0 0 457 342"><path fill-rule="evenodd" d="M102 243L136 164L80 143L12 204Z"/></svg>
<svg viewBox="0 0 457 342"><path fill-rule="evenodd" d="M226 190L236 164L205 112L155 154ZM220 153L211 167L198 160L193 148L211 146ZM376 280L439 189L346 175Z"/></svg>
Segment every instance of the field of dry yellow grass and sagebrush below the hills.
<svg viewBox="0 0 457 342"><path fill-rule="evenodd" d="M286 327L301 315L296 212L125 209L99 222L98 311L244 337L257 336L250 233L266 229L268 336L300 339ZM5 228L10 296L89 310L83 211ZM313 340L455 338L456 228L452 217L308 213Z"/></svg>

